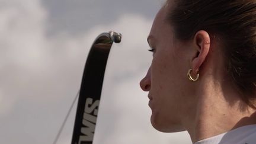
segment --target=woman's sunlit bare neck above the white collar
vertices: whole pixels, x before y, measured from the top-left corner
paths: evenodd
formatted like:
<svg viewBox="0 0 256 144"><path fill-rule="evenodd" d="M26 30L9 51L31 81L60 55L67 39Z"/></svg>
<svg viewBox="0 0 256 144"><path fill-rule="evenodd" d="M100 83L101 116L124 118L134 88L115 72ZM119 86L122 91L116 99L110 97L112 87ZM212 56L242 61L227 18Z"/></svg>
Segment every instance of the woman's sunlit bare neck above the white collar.
<svg viewBox="0 0 256 144"><path fill-rule="evenodd" d="M194 113L184 124L193 143L237 127L256 124L256 110L245 104L233 88L202 83L207 85L200 87Z"/></svg>

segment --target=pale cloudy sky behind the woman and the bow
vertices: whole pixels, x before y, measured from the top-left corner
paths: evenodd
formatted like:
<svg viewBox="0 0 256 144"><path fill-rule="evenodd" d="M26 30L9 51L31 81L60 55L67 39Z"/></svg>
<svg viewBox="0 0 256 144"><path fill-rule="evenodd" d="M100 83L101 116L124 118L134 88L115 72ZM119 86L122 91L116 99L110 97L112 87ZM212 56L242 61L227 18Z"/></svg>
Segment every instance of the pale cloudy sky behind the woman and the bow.
<svg viewBox="0 0 256 144"><path fill-rule="evenodd" d="M94 144L191 144L150 123L139 81L161 0L0 0L0 143L53 143L81 84L92 42L123 35L108 57ZM76 104L75 104L76 105ZM76 107L57 143L71 143Z"/></svg>

